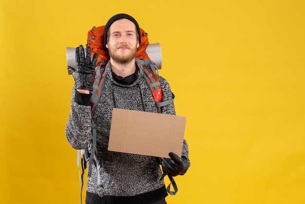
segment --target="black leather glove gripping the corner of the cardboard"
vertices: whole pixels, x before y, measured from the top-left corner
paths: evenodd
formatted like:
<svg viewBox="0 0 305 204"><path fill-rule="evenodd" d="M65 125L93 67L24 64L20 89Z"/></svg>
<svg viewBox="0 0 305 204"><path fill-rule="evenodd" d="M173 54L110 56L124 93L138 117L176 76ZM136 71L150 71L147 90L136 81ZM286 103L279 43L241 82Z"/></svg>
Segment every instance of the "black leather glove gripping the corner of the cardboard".
<svg viewBox="0 0 305 204"><path fill-rule="evenodd" d="M169 153L171 159L162 158L162 171L164 175L177 176L183 175L188 169L189 162L185 157L180 158L173 152Z"/></svg>

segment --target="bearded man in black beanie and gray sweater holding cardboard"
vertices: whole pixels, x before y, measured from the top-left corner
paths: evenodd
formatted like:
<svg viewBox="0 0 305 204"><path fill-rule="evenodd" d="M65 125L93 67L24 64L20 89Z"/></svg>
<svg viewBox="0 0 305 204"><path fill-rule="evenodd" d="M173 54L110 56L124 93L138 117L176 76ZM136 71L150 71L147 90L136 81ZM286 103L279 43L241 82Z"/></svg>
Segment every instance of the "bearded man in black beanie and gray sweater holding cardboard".
<svg viewBox="0 0 305 204"><path fill-rule="evenodd" d="M151 156L107 150L113 108L158 112L151 90L143 78L143 67L135 61L140 36L138 23L127 14L115 15L105 26L104 44L109 50L110 61L105 68L101 98L92 116L97 131L97 158L103 161L99 168L102 185L97 185L98 172L93 169L87 181L86 204L166 204L168 194L159 164L170 176L183 175L190 166L185 140L182 158L169 153L172 159L162 159L160 163ZM80 46L76 48L76 69L68 67L76 83L66 136L76 149L87 147L92 140L90 91L93 90L95 64L96 56L88 61ZM172 91L168 82L157 77L163 101L171 100ZM161 113L175 115L173 103L163 106ZM101 192L103 196L99 196Z"/></svg>

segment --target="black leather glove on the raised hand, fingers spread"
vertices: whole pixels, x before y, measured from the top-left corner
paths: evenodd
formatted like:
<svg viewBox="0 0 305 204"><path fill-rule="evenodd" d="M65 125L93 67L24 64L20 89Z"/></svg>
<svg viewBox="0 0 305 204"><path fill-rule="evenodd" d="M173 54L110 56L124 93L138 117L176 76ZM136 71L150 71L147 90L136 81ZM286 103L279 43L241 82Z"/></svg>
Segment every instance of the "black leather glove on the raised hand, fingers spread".
<svg viewBox="0 0 305 204"><path fill-rule="evenodd" d="M93 80L96 61L96 53L94 54L93 59L91 61L91 48L89 46L87 46L86 48L86 57L83 46L79 45L79 47L76 47L76 69L71 66L68 66L68 70L71 72L76 83L76 89L93 91Z"/></svg>

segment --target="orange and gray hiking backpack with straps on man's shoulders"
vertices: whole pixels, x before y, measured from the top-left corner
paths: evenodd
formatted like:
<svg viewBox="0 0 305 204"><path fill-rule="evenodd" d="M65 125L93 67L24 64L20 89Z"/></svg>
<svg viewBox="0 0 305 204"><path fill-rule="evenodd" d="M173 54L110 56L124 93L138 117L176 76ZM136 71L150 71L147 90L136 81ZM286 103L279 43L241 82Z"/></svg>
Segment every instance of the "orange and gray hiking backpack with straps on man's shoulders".
<svg viewBox="0 0 305 204"><path fill-rule="evenodd" d="M100 27L93 27L89 32L88 32L88 37L87 37L87 46L90 46L91 48L91 58L93 58L94 54L97 53L97 62L95 66L95 78L93 82L93 91L92 91L92 96L91 96L91 115L94 115L96 105L99 101L101 90L103 88L103 83L105 82L105 67L110 60L108 50L104 46L104 29L105 26L100 26ZM158 113L161 113L161 107L171 104L174 99L174 95L172 94L172 99L169 101L162 102L162 89L160 82L158 81L156 75L158 74L158 67L156 64L150 59L146 52L146 48L149 45L148 41L148 33L146 33L143 29L140 28L140 33L141 33L141 43L139 47L137 48L135 60L139 62L143 67L144 67L144 78L147 82L147 84L150 87L150 90L152 92L152 97L153 100L156 104L156 107L158 109ZM68 58L68 57L67 57ZM96 126L93 120L91 121L92 125L92 141L91 143L88 144L88 147L82 150L77 151L77 165L78 167L79 162L81 163L81 170L82 173L80 173L80 184L81 184L81 190L80 190L80 197L82 201L82 188L83 188L83 175L84 171L87 168L87 163L88 163L88 177L91 176L92 173L92 168L96 169L97 173L97 185L102 186L100 182L100 175L99 175L99 167L102 165L102 161L100 161L96 157ZM92 154L93 152L93 154ZM79 167L80 168L80 167ZM161 179L164 178L164 174ZM167 191L170 195L175 195L176 192L178 191L178 188L173 180L172 177L169 176L170 179L170 184L167 187ZM174 191L170 190L170 185L172 184ZM99 194L100 197L103 196L103 193Z"/></svg>

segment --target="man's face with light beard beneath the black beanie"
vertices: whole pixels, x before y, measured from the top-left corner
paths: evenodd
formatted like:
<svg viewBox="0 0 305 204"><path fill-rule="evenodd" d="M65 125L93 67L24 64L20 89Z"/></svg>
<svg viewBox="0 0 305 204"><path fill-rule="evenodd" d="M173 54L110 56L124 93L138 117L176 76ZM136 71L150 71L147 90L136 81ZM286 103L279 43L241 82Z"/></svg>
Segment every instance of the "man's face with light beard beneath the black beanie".
<svg viewBox="0 0 305 204"><path fill-rule="evenodd" d="M131 62L139 47L134 23L127 19L116 20L108 32L109 40L106 47L111 60L120 64Z"/></svg>

